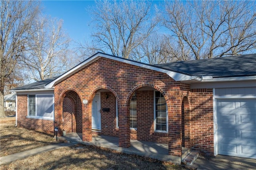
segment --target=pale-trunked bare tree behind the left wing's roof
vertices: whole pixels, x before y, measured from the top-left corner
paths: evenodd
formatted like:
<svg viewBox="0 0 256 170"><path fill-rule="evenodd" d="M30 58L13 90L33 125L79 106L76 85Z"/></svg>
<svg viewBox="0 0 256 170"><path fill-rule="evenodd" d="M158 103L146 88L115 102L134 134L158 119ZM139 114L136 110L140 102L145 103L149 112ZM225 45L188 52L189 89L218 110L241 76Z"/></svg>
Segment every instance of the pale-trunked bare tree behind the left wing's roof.
<svg viewBox="0 0 256 170"><path fill-rule="evenodd" d="M62 30L62 20L40 16L35 18L33 29L22 60L30 79L40 81L66 71L70 40Z"/></svg>

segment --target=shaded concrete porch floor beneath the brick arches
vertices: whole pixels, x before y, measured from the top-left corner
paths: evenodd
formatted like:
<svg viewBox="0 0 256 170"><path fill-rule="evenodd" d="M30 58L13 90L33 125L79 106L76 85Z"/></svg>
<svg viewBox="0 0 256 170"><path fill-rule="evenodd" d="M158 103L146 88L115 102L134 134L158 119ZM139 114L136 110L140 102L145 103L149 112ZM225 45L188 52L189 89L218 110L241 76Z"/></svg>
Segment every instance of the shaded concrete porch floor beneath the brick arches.
<svg viewBox="0 0 256 170"><path fill-rule="evenodd" d="M137 154L140 156L147 156L162 161L170 161L175 164L181 163L180 157L168 155L168 144L130 140L130 147L122 148L118 146L118 137L92 135L92 141L85 142L82 141L82 133L75 132L68 133L66 134L66 136L58 136L58 139L66 140L68 142L82 143L86 145L101 146L104 148L110 148L127 154ZM186 150L186 148L182 148L182 153L186 152Z"/></svg>

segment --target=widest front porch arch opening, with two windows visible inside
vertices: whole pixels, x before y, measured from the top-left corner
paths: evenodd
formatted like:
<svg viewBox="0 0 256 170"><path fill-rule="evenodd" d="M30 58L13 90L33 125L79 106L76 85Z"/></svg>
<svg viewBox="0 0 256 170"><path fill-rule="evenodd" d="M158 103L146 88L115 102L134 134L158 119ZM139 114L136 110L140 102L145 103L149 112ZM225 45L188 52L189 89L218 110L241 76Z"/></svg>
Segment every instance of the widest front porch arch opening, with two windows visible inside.
<svg viewBox="0 0 256 170"><path fill-rule="evenodd" d="M145 83L130 91L126 100L130 139L168 144L168 97L156 85Z"/></svg>

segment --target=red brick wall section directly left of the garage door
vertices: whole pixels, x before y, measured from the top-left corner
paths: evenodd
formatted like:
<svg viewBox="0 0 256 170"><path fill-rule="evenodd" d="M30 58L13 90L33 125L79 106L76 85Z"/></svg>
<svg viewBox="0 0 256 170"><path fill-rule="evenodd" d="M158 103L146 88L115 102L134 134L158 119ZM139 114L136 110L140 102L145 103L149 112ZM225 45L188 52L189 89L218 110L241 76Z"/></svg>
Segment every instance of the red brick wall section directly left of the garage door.
<svg viewBox="0 0 256 170"><path fill-rule="evenodd" d="M212 89L191 89L190 109L193 148L214 155Z"/></svg>

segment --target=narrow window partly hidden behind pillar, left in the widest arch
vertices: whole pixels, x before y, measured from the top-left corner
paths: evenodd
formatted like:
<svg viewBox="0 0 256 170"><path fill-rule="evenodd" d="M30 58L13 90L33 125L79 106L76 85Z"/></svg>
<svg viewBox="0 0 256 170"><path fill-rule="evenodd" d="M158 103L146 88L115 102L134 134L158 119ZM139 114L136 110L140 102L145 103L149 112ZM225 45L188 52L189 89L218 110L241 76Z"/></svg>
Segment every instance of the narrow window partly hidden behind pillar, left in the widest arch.
<svg viewBox="0 0 256 170"><path fill-rule="evenodd" d="M130 101L130 128L137 129L137 97L136 93Z"/></svg>

